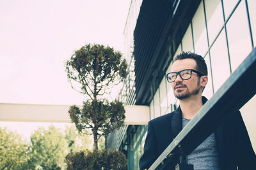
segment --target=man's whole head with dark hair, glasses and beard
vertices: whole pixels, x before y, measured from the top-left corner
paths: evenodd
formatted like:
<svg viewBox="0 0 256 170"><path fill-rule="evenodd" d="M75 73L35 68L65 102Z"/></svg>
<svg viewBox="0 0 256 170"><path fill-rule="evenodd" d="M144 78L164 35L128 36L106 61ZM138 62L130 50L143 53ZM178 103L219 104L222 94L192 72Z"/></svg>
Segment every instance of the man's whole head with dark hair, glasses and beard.
<svg viewBox="0 0 256 170"><path fill-rule="evenodd" d="M172 83L173 93L178 99L200 95L207 84L207 66L202 56L182 52L175 57L172 72L166 74Z"/></svg>

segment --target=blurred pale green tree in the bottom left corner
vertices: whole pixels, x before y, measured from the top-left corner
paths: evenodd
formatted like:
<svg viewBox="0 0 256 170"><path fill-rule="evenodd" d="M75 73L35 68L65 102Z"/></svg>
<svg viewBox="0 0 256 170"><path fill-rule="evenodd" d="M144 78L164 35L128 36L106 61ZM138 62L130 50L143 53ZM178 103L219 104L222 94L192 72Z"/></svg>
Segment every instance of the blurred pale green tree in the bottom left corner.
<svg viewBox="0 0 256 170"><path fill-rule="evenodd" d="M0 127L0 169L28 169L29 143Z"/></svg>

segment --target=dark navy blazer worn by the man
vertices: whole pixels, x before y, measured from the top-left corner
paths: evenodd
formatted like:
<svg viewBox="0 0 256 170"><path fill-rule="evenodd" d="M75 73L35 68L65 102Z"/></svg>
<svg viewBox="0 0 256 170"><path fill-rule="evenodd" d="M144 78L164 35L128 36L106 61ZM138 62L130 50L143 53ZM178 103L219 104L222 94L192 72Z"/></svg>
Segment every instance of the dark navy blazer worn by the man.
<svg viewBox="0 0 256 170"><path fill-rule="evenodd" d="M202 98L203 103L207 101ZM180 107L172 113L157 117L148 122L147 138L144 153L140 159L140 169L148 169L154 161L170 145L172 140L182 130ZM256 156L241 117L241 113L231 114L215 131L216 146L223 170L239 168L256 169Z"/></svg>

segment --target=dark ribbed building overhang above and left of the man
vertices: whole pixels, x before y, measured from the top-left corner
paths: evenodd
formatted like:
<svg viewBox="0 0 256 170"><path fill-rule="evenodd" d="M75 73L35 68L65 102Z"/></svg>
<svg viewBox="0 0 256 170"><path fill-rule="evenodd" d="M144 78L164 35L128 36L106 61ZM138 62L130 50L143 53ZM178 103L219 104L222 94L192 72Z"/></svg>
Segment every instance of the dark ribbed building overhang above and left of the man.
<svg viewBox="0 0 256 170"><path fill-rule="evenodd" d="M142 2L134 29L136 104L150 104L200 1Z"/></svg>

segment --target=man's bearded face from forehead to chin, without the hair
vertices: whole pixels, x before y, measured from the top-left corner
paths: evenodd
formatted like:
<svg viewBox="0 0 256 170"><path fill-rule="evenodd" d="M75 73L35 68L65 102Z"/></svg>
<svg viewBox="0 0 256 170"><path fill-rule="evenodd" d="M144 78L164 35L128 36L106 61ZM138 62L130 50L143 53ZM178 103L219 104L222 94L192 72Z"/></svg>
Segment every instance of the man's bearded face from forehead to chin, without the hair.
<svg viewBox="0 0 256 170"><path fill-rule="evenodd" d="M184 69L195 69L196 61L194 59L176 60L172 65L172 72L182 71ZM200 77L192 72L191 78L182 80L179 74L174 82L172 82L174 96L178 99L186 99L190 96L197 95L200 92Z"/></svg>

